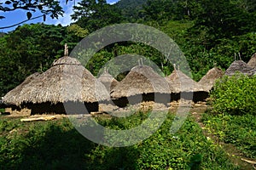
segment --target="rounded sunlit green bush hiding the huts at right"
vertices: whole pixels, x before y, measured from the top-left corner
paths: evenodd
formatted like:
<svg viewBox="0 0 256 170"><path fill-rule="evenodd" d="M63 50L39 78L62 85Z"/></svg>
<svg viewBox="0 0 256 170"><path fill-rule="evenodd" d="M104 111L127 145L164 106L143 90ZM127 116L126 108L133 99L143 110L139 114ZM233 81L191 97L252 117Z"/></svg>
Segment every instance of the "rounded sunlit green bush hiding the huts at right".
<svg viewBox="0 0 256 170"><path fill-rule="evenodd" d="M231 115L256 115L256 76L223 77L212 91L212 111Z"/></svg>

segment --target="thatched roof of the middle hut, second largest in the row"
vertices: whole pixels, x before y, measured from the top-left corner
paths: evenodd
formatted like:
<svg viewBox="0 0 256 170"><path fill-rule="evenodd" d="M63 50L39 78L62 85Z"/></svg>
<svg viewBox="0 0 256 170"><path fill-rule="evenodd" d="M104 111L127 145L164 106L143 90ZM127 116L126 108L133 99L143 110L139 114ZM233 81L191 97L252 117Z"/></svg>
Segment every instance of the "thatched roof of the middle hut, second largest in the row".
<svg viewBox="0 0 256 170"><path fill-rule="evenodd" d="M160 77L148 65L138 65L131 69L128 75L113 88L111 97L118 99L137 94L171 94L173 89L163 77Z"/></svg>

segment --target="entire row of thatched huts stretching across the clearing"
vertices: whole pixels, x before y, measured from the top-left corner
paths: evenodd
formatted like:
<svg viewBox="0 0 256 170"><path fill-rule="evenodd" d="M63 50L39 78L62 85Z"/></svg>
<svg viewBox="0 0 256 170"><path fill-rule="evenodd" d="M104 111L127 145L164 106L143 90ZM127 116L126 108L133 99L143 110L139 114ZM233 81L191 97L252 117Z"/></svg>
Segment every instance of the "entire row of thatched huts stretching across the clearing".
<svg viewBox="0 0 256 170"><path fill-rule="evenodd" d="M78 59L66 54L56 59L49 70L26 77L3 97L3 102L13 109L31 109L32 114L89 113L98 111L101 102L113 102L119 107L142 101L167 104L181 98L197 102L207 99L216 79L224 74L233 75L236 71L255 75L256 54L247 64L241 60L234 61L225 73L214 67L200 82L195 82L176 68L170 76L160 77L148 65L133 67L120 82L107 70L96 78Z"/></svg>

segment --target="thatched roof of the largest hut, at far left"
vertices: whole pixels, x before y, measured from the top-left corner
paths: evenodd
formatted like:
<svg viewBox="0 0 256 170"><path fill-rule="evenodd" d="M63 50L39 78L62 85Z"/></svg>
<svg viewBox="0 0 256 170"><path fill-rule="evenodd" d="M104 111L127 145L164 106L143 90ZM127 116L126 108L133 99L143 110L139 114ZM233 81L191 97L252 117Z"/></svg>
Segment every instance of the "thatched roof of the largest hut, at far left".
<svg viewBox="0 0 256 170"><path fill-rule="evenodd" d="M108 98L102 82L97 81L77 59L67 56L55 60L49 70L32 79L19 91L17 95L9 92L4 96L4 101L15 105L67 101L93 103Z"/></svg>

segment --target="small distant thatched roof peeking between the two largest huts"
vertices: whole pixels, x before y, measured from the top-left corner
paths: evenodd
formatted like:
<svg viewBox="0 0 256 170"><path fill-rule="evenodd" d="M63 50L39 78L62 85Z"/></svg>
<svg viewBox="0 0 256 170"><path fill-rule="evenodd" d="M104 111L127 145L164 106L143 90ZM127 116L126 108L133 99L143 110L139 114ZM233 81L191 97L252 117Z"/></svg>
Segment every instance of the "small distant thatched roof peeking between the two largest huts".
<svg viewBox="0 0 256 170"><path fill-rule="evenodd" d="M108 73L107 70L105 70L100 77L98 77L98 80L104 84L104 86L108 89L110 92L114 87L116 87L118 81L112 77L111 74Z"/></svg>

